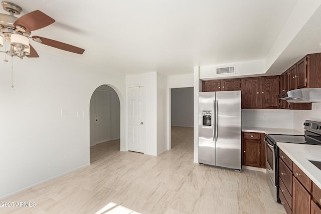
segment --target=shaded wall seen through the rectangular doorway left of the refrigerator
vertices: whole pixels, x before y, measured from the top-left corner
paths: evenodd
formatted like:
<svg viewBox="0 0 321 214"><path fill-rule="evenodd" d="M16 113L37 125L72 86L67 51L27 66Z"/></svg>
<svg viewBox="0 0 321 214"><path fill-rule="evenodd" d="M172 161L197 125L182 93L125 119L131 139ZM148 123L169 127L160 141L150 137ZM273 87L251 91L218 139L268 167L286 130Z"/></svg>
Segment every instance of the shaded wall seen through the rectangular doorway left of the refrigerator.
<svg viewBox="0 0 321 214"><path fill-rule="evenodd" d="M172 126L194 127L194 88L172 88Z"/></svg>

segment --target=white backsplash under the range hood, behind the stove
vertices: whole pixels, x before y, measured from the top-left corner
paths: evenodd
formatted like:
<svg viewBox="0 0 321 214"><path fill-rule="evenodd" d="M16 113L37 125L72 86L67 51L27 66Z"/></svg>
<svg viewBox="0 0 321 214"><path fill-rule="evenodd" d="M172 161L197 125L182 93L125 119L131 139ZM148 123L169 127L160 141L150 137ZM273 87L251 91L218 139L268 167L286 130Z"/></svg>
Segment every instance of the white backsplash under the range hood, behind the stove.
<svg viewBox="0 0 321 214"><path fill-rule="evenodd" d="M312 103L312 110L293 110L293 128L303 132L303 122L314 120L321 122L321 103Z"/></svg>

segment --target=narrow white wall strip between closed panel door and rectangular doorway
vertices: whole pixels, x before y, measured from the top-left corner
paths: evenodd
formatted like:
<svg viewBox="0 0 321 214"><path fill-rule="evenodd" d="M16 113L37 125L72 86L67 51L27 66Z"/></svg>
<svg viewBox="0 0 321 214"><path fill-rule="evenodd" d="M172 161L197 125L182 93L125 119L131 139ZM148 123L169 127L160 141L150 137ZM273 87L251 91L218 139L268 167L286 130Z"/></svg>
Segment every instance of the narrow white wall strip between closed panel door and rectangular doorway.
<svg viewBox="0 0 321 214"><path fill-rule="evenodd" d="M167 150L167 77L157 73L157 155Z"/></svg>

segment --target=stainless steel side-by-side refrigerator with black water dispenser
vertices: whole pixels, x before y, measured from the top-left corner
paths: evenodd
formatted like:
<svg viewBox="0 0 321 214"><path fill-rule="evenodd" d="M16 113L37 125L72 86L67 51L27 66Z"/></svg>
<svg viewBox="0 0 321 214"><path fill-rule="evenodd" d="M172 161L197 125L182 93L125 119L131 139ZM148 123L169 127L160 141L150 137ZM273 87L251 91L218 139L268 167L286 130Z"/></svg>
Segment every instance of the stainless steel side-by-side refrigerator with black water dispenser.
<svg viewBox="0 0 321 214"><path fill-rule="evenodd" d="M241 91L200 92L199 163L241 170Z"/></svg>

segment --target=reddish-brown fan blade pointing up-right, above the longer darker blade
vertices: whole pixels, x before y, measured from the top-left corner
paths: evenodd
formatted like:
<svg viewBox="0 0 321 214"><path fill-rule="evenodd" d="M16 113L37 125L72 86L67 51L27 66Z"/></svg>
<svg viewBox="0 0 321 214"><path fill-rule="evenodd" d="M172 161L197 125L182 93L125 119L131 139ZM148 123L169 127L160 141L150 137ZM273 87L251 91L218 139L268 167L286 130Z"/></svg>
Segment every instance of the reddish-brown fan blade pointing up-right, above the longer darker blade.
<svg viewBox="0 0 321 214"><path fill-rule="evenodd" d="M14 26L21 26L26 29L27 32L32 32L56 22L53 18L47 16L41 11L34 11L20 17Z"/></svg>

